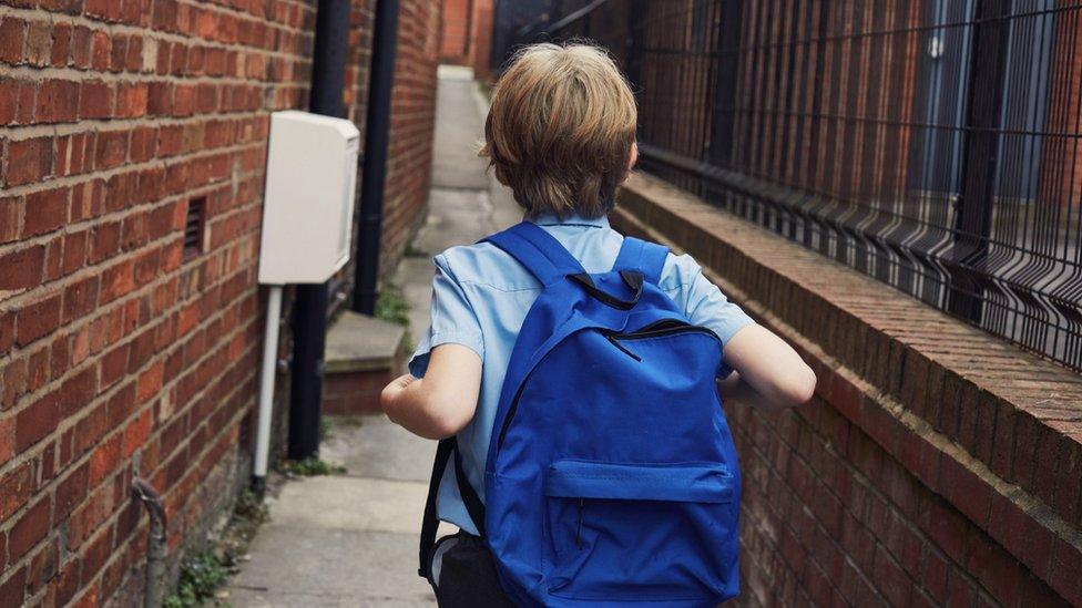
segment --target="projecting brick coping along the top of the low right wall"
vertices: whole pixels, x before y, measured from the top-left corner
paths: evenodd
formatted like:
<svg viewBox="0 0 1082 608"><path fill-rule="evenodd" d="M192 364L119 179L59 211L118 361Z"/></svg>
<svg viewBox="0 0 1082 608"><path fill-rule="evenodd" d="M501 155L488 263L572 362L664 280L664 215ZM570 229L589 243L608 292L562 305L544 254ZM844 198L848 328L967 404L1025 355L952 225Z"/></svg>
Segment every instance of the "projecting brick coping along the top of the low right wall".
<svg viewBox="0 0 1082 608"><path fill-rule="evenodd" d="M612 220L694 256L825 401L1082 604L1082 378L654 177Z"/></svg>

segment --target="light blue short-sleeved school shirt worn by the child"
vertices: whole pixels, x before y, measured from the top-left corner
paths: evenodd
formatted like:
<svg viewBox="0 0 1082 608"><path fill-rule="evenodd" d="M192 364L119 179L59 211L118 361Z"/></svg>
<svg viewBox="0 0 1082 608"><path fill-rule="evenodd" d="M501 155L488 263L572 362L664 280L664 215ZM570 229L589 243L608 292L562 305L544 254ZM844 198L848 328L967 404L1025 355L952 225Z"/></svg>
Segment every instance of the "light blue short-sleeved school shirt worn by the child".
<svg viewBox="0 0 1082 608"><path fill-rule="evenodd" d="M609 226L609 218L572 216L564 220L541 216L533 220L554 236L586 272L606 272L616 260L624 237ZM473 420L459 432L458 447L466 476L484 499L484 461L492 423L503 388L511 350L527 312L541 292L541 284L511 256L489 243L451 247L433 258L432 322L421 337L409 371L425 375L429 352L447 343L462 344L481 358L481 392ZM754 323L741 308L706 280L691 256L668 254L659 287L696 326L712 329L722 347L742 328ZM727 375L728 371L723 369ZM455 483L453 466L440 482L439 518L477 535Z"/></svg>

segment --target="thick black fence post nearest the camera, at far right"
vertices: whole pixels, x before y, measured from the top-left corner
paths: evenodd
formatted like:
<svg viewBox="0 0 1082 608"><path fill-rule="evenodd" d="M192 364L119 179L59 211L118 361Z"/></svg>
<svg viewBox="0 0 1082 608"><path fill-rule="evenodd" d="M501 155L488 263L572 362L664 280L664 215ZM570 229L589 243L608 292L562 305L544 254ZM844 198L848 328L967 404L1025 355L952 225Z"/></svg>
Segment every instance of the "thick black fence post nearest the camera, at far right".
<svg viewBox="0 0 1082 608"><path fill-rule="evenodd" d="M961 193L955 215L955 246L948 261L947 310L981 320L983 289L974 267L988 257L996 197L996 173L1007 79L1010 22L1008 0L977 2L966 101Z"/></svg>

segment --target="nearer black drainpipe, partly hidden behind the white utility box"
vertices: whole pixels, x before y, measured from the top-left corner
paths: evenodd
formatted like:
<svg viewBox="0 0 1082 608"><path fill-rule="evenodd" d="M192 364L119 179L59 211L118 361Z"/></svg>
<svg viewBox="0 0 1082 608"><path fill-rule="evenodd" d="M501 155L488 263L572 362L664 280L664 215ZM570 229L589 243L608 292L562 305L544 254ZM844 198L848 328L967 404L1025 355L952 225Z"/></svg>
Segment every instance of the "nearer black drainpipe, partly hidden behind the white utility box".
<svg viewBox="0 0 1082 608"><path fill-rule="evenodd" d="M316 41L312 53L308 109L314 114L343 116L346 82L349 0L319 0ZM327 337L328 285L299 285L293 317L293 382L289 394L289 458L319 453L323 406L323 349Z"/></svg>

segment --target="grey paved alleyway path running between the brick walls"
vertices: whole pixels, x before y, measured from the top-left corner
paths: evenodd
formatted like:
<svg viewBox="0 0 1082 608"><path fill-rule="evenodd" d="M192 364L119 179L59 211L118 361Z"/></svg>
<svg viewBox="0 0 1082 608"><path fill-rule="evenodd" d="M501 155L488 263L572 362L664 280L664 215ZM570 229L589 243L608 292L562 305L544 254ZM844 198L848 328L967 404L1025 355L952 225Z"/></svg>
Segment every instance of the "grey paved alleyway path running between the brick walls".
<svg viewBox="0 0 1082 608"><path fill-rule="evenodd" d="M428 327L431 255L521 216L477 158L483 112L472 73L441 68L430 209L414 243L427 255L406 258L397 277L412 305L415 343ZM239 608L435 606L416 574L435 449L382 416L336 424L320 453L347 473L285 485L227 601Z"/></svg>

